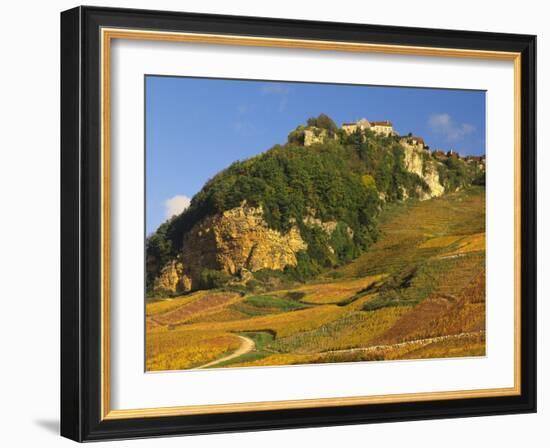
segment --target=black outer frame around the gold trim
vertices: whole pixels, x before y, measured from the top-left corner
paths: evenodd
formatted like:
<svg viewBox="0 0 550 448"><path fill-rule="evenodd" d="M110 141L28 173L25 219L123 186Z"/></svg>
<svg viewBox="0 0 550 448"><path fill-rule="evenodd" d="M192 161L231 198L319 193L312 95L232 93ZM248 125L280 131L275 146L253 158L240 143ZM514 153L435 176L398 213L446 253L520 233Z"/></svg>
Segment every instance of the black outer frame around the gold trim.
<svg viewBox="0 0 550 448"><path fill-rule="evenodd" d="M102 421L102 27L521 53L521 395ZM535 54L531 35L98 7L63 12L61 434L91 441L536 412Z"/></svg>

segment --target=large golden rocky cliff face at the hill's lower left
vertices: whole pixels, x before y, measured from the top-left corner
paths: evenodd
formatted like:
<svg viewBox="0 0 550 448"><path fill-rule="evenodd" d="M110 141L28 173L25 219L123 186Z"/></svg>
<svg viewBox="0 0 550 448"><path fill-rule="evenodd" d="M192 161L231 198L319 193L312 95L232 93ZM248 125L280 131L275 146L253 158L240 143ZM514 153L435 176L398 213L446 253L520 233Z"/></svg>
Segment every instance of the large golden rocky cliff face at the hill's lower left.
<svg viewBox="0 0 550 448"><path fill-rule="evenodd" d="M287 233L270 229L261 207L227 210L199 222L185 236L177 261L168 263L157 279L157 292L195 289L204 269L237 275L242 271L282 270L296 266L296 254L307 249L297 227Z"/></svg>

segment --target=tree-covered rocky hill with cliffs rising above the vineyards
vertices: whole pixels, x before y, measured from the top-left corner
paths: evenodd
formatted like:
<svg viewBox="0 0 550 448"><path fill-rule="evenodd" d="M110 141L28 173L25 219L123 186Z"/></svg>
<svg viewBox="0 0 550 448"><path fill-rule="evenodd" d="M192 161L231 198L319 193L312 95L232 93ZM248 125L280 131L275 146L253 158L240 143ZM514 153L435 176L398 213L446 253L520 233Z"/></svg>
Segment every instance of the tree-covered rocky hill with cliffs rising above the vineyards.
<svg viewBox="0 0 550 448"><path fill-rule="evenodd" d="M305 281L365 253L389 205L473 183L484 183L480 161L432 152L412 135L339 129L322 114L218 173L147 239L147 293Z"/></svg>

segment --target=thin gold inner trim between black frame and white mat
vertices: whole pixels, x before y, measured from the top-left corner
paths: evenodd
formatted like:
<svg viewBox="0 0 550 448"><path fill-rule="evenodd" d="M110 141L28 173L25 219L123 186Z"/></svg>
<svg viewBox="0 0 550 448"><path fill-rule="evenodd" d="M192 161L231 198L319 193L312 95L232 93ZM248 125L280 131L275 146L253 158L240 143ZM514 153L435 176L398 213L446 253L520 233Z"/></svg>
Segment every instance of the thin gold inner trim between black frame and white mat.
<svg viewBox="0 0 550 448"><path fill-rule="evenodd" d="M110 398L110 63L113 39L295 48L355 53L382 53L410 56L491 59L514 63L514 386L509 388L460 391L316 398L218 405L190 405L139 409L111 409ZM210 413L307 409L414 401L503 397L521 394L521 53L416 47L302 39L261 38L216 34L143 31L137 29L101 29L101 419L117 420L168 417Z"/></svg>

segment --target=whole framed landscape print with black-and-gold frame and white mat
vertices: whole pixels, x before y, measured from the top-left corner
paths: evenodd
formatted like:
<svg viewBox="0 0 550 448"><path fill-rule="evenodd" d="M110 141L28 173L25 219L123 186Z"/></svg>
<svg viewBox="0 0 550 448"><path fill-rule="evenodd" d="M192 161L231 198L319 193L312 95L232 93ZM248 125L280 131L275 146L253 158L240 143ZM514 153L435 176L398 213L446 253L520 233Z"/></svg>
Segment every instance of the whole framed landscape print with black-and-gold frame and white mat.
<svg viewBox="0 0 550 448"><path fill-rule="evenodd" d="M535 412L535 36L61 14L61 432Z"/></svg>

